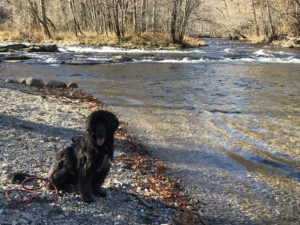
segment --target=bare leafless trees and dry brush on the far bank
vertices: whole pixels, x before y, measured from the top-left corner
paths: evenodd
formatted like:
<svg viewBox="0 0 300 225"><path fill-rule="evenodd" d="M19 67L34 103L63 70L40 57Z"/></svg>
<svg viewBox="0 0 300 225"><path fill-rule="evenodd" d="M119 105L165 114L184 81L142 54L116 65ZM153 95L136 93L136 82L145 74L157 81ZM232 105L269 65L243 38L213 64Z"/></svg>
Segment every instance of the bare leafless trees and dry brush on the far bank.
<svg viewBox="0 0 300 225"><path fill-rule="evenodd" d="M182 44L187 36L265 42L299 37L300 0L0 2L1 40L86 40L91 44L110 44L115 39L166 46Z"/></svg>

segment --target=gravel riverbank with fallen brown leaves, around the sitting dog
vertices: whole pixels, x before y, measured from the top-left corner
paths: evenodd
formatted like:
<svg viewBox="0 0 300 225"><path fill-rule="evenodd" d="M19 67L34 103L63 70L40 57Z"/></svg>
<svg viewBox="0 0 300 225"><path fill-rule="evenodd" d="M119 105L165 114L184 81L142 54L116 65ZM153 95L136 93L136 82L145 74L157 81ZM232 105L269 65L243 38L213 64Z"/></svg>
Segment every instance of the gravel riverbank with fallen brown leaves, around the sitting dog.
<svg viewBox="0 0 300 225"><path fill-rule="evenodd" d="M9 174L24 171L45 177L55 154L82 133L95 109L109 107L75 89L28 87L0 80L0 221L4 224L204 224L198 203L168 176L121 123L116 134L116 158L105 183L109 196L86 204L76 194L58 201L33 200L15 205L3 196L20 188ZM15 193L19 196L18 193ZM43 190L42 197L49 197Z"/></svg>

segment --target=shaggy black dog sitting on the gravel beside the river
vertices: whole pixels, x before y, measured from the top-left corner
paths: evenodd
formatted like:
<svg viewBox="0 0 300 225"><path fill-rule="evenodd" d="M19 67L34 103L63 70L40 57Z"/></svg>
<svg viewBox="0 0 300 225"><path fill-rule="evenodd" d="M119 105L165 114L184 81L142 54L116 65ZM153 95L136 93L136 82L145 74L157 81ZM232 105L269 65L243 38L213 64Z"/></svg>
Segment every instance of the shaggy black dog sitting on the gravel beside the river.
<svg viewBox="0 0 300 225"><path fill-rule="evenodd" d="M100 188L107 177L113 160L114 133L119 126L116 116L98 110L87 119L83 136L73 139L73 144L61 151L53 164L49 177L58 189L67 190L70 185L78 187L85 202L94 196L106 196Z"/></svg>

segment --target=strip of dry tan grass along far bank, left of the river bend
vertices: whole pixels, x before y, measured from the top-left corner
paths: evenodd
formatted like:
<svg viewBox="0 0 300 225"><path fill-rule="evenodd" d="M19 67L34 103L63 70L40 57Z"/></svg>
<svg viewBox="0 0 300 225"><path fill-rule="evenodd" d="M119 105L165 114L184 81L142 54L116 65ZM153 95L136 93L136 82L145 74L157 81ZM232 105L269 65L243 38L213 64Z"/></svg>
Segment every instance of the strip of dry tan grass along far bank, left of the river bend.
<svg viewBox="0 0 300 225"><path fill-rule="evenodd" d="M83 32L82 35L75 36L74 32L57 32L52 38L47 38L43 32L22 32L1 29L0 41L25 41L35 43L64 43L64 44L81 44L81 45L98 45L98 46L118 46L123 48L158 48L158 49L180 49L183 47L200 47L205 42L186 36L183 45L171 44L169 36L166 33L142 33L127 34L119 42L113 33L97 34L95 32Z"/></svg>

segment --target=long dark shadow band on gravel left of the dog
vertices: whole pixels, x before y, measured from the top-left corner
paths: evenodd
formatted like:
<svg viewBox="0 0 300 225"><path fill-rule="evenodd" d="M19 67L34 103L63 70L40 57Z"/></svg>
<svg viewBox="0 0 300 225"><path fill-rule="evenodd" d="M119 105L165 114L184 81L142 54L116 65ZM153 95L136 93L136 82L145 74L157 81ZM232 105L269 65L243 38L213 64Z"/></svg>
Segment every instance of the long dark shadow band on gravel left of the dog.
<svg viewBox="0 0 300 225"><path fill-rule="evenodd" d="M43 123L36 123L31 121L22 120L14 116L8 116L0 114L0 127L2 130L6 129L20 129L27 132L35 132L45 136L55 136L55 137L73 137L79 135L80 132L74 129L51 126Z"/></svg>

